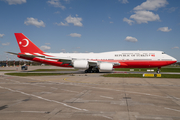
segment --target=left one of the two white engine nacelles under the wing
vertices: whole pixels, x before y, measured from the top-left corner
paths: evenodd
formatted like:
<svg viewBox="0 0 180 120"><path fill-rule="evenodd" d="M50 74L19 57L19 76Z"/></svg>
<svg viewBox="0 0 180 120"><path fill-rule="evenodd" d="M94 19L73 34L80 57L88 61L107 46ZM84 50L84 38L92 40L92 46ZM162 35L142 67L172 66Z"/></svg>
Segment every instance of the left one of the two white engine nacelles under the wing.
<svg viewBox="0 0 180 120"><path fill-rule="evenodd" d="M73 66L75 69L88 69L89 64L87 60L75 60L73 62Z"/></svg>

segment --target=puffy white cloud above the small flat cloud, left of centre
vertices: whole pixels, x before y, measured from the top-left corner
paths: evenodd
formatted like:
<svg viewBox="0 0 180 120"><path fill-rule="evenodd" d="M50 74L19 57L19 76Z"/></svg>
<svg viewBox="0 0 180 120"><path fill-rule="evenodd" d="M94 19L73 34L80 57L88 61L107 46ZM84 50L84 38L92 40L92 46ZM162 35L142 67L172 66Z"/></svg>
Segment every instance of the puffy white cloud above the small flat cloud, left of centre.
<svg viewBox="0 0 180 120"><path fill-rule="evenodd" d="M66 20L67 23L74 24L74 26L79 26L79 27L83 26L83 24L81 23L82 18L80 18L80 17L77 17L77 16L76 17L71 17L71 15L69 15L65 20Z"/></svg>

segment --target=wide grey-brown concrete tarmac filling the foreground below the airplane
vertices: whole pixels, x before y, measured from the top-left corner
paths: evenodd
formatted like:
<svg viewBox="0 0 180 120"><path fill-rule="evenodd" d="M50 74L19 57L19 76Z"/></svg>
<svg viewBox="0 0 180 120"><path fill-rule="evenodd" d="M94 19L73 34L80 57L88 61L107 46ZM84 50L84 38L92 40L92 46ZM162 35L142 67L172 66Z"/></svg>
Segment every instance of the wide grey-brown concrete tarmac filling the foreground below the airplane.
<svg viewBox="0 0 180 120"><path fill-rule="evenodd" d="M180 120L180 79L2 73L0 120Z"/></svg>

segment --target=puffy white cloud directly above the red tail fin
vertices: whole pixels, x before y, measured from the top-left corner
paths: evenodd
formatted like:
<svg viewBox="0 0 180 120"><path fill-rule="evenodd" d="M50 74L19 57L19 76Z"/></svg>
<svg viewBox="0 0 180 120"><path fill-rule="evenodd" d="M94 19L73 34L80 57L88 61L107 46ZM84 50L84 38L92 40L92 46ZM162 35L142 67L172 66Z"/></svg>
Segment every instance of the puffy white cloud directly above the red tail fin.
<svg viewBox="0 0 180 120"><path fill-rule="evenodd" d="M35 18L27 18L27 20L24 21L24 24L26 25L34 25L36 27L45 27L45 24L42 20L38 21L38 19Z"/></svg>

